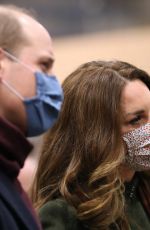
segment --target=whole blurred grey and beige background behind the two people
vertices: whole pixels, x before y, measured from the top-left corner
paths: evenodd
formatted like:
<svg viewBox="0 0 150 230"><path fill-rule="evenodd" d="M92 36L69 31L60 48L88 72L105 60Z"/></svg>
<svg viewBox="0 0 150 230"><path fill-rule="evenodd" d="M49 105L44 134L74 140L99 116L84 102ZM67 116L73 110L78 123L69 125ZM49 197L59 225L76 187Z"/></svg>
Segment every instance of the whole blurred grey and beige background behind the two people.
<svg viewBox="0 0 150 230"><path fill-rule="evenodd" d="M0 3L36 12L54 39L55 72L61 82L80 64L93 59L121 59L150 73L149 0L0 0ZM40 152L42 137L31 141L35 148L25 165L30 178L35 172L34 156ZM23 171L20 177L23 181ZM28 190L29 177L24 187Z"/></svg>

